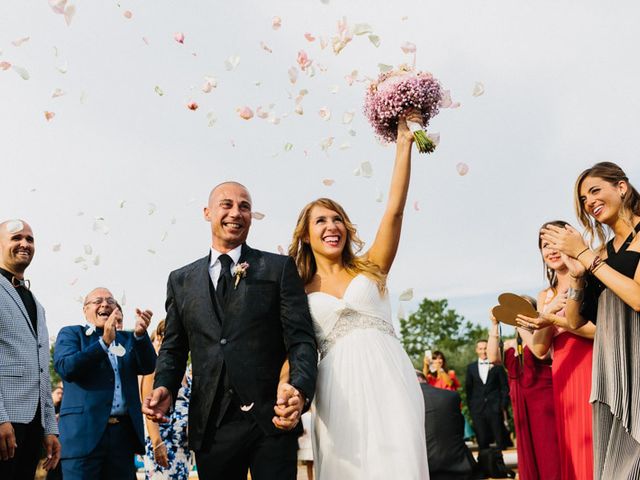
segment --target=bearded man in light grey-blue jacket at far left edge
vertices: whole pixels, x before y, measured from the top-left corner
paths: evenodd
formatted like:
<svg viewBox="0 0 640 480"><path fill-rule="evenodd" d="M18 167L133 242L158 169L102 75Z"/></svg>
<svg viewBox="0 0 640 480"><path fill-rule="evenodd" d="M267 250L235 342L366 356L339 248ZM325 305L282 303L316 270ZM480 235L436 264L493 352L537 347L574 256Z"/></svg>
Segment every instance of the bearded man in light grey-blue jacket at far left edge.
<svg viewBox="0 0 640 480"><path fill-rule="evenodd" d="M49 334L44 309L24 272L35 253L31 227L0 223L0 478L34 478L44 446L44 467L60 458L51 400Z"/></svg>

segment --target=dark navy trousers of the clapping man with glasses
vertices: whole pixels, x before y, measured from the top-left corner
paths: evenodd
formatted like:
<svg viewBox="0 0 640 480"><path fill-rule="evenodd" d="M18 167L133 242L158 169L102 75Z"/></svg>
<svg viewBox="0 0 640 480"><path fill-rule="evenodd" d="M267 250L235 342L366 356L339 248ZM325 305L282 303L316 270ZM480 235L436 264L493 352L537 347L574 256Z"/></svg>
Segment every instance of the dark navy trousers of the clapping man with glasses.
<svg viewBox="0 0 640 480"><path fill-rule="evenodd" d="M107 425L89 455L62 460L64 480L135 480L133 457L138 440L130 418L122 418L120 423Z"/></svg>

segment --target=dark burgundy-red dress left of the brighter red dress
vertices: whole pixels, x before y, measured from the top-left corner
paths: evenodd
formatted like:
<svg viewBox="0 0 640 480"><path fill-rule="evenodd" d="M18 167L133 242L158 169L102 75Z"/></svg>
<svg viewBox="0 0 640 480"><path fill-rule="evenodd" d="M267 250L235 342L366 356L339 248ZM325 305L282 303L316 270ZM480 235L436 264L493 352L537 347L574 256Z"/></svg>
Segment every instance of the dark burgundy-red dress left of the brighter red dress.
<svg viewBox="0 0 640 480"><path fill-rule="evenodd" d="M551 366L525 346L520 358L515 349L504 352L509 375L521 480L560 480L558 436L553 411Z"/></svg>

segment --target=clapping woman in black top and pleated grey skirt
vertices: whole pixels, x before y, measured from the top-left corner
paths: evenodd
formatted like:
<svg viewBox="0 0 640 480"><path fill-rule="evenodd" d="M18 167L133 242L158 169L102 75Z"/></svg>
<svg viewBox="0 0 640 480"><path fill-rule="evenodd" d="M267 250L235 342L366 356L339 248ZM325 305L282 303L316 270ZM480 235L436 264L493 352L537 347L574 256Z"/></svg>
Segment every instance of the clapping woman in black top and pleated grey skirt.
<svg viewBox="0 0 640 480"><path fill-rule="evenodd" d="M549 225L542 239L569 269L569 325L596 325L594 478L640 478L640 194L618 165L601 162L578 176L575 205L589 244L569 226Z"/></svg>

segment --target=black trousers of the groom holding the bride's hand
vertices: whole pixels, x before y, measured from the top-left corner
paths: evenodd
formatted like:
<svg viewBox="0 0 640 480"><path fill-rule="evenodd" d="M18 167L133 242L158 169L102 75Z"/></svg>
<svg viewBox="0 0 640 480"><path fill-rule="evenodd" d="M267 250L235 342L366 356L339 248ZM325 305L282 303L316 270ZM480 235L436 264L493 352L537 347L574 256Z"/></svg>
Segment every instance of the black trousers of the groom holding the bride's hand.
<svg viewBox="0 0 640 480"><path fill-rule="evenodd" d="M232 402L220 426L210 414L202 448L196 453L201 480L295 480L296 434L266 436L250 413ZM66 480L66 477L65 477Z"/></svg>

